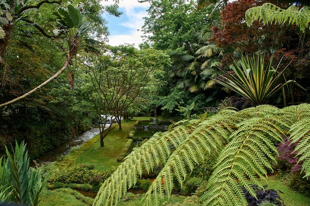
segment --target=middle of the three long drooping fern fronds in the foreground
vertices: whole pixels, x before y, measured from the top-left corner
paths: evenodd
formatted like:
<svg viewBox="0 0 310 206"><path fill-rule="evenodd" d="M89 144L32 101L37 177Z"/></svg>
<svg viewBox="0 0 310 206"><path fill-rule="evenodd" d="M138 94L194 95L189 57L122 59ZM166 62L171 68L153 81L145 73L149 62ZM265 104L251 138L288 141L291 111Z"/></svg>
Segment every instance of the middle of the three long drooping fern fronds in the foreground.
<svg viewBox="0 0 310 206"><path fill-rule="evenodd" d="M170 197L173 189L173 176L182 186L186 176L193 171L195 163L204 160L205 154L217 154L226 138L234 131L237 119L231 118L236 113L225 110L218 116L212 116L200 122L183 144L171 154L167 163L154 180L142 202L144 206L159 205L166 194ZM220 121L219 121L220 120Z"/></svg>

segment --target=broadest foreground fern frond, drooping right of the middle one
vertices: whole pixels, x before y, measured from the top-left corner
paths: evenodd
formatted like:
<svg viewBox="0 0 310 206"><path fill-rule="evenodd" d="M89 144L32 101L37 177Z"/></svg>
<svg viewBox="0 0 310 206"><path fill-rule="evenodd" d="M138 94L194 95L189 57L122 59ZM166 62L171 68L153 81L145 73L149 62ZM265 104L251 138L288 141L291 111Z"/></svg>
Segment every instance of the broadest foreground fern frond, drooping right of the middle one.
<svg viewBox="0 0 310 206"><path fill-rule="evenodd" d="M262 187L258 178L265 179L266 168L272 170L270 159L275 161L272 153L277 152L272 139L279 141L282 134L276 119L251 118L237 127L213 166L208 191L201 198L205 206L247 206L241 186L255 196L252 185Z"/></svg>

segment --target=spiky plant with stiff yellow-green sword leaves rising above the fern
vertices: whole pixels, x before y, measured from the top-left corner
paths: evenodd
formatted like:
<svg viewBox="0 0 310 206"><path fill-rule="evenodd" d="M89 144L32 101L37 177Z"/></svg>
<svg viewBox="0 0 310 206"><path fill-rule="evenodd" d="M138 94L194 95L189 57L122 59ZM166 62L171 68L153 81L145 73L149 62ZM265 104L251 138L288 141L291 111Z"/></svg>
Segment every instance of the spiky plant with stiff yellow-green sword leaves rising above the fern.
<svg viewBox="0 0 310 206"><path fill-rule="evenodd" d="M272 66L274 54L265 65L265 54L242 55L239 61L232 62L232 69L236 76L224 72L226 76L215 79L216 82L239 93L250 100L254 105L263 104L273 94L294 80L278 83L283 72Z"/></svg>

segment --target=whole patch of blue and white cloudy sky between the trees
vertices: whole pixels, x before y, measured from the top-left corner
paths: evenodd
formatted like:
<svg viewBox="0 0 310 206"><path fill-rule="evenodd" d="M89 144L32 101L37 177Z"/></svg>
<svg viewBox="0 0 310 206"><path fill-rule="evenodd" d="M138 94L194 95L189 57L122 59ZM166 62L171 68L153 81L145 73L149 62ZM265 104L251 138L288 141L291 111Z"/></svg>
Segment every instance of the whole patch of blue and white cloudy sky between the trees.
<svg viewBox="0 0 310 206"><path fill-rule="evenodd" d="M103 5L113 4L113 0L102 1ZM143 17L148 15L146 11L150 4L148 2L139 3L138 0L120 0L119 10L122 11L120 17L103 14L103 18L108 21L107 27L110 32L108 44L116 46L123 43L134 43L138 47L142 43L141 27L144 24Z"/></svg>

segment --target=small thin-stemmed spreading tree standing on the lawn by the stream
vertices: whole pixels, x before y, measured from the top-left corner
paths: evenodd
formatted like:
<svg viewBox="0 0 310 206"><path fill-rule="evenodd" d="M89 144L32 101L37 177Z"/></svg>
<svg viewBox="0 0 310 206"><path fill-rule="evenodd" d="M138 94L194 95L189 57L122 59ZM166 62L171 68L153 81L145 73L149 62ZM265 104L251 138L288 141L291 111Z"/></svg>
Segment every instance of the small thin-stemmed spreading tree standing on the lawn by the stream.
<svg viewBox="0 0 310 206"><path fill-rule="evenodd" d="M87 86L90 89L93 87L91 98L99 117L105 115L105 119L100 121L102 128L105 127L107 116L111 115L121 129L119 118L152 80L155 72L162 72L169 58L162 51L151 48L137 50L130 45L111 47L109 52L111 57L95 57L91 62L96 63L86 66L85 71L91 81ZM104 146L103 139L110 128L111 124L101 131L101 146Z"/></svg>

